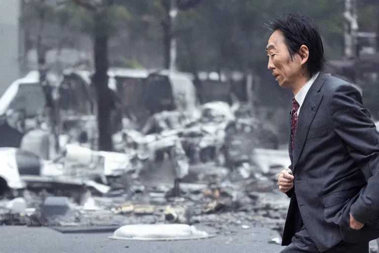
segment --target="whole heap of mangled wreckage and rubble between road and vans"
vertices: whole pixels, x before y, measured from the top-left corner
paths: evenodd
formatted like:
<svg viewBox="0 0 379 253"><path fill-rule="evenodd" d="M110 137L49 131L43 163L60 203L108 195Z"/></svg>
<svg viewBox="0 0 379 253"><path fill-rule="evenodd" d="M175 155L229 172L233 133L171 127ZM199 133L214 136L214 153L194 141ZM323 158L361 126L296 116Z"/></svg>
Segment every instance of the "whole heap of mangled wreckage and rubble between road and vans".
<svg viewBox="0 0 379 253"><path fill-rule="evenodd" d="M209 102L197 119L164 111L141 127L124 127L113 136L117 152L96 151L88 126L68 127L53 158L34 153L33 146L1 148L7 172L0 179L14 194L0 203L0 223L201 223L225 234L265 224L279 230L289 200L278 192L274 174L288 166L288 151L259 149L257 126L236 117L235 107Z"/></svg>

